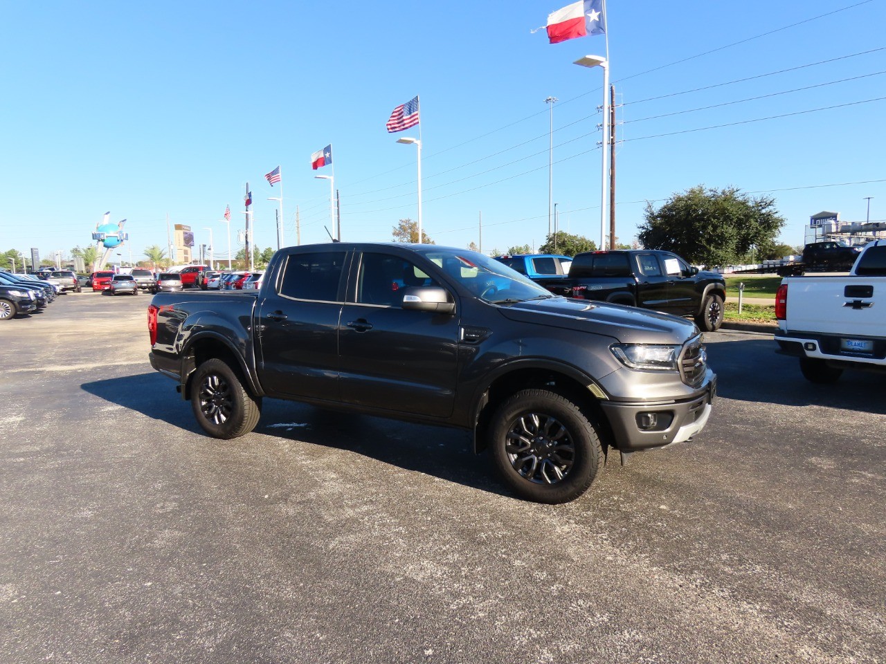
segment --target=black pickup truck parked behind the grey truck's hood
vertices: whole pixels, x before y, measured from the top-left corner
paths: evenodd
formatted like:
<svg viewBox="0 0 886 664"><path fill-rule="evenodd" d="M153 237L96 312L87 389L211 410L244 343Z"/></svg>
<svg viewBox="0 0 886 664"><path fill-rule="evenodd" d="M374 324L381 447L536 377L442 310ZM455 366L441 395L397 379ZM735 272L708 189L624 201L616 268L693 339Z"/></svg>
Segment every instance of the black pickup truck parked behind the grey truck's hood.
<svg viewBox="0 0 886 664"><path fill-rule="evenodd" d="M568 279L535 282L556 295L690 317L705 332L723 323L723 275L699 272L670 251L585 251L572 259Z"/></svg>

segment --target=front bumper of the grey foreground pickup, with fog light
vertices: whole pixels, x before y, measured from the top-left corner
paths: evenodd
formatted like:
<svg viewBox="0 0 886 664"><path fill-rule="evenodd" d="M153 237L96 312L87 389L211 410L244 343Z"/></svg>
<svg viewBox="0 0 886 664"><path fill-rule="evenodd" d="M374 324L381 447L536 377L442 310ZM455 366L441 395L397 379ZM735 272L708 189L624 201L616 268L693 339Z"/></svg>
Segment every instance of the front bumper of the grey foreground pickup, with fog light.
<svg viewBox="0 0 886 664"><path fill-rule="evenodd" d="M693 398L666 404L601 401L619 452L638 452L685 443L700 433L711 416L717 376Z"/></svg>

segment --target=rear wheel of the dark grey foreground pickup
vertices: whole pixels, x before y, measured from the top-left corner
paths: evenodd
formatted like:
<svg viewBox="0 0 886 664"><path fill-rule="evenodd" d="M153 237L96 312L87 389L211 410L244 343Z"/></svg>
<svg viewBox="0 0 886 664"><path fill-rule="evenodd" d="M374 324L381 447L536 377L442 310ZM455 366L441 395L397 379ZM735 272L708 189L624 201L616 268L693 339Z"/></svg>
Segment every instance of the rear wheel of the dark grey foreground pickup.
<svg viewBox="0 0 886 664"><path fill-rule="evenodd" d="M248 434L261 415L261 399L249 394L239 373L221 359L207 359L197 367L190 405L200 427L225 440Z"/></svg>

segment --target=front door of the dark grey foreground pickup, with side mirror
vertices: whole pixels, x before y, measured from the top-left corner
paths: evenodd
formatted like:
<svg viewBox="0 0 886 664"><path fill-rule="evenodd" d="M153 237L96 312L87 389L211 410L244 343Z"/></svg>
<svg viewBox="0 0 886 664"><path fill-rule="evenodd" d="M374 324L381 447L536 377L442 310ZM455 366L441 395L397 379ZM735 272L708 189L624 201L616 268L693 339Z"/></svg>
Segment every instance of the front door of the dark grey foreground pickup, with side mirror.
<svg viewBox="0 0 886 664"><path fill-rule="evenodd" d="M338 333L342 400L449 416L455 405L458 316L401 307L405 288L442 284L393 252L364 252L359 265L356 258Z"/></svg>

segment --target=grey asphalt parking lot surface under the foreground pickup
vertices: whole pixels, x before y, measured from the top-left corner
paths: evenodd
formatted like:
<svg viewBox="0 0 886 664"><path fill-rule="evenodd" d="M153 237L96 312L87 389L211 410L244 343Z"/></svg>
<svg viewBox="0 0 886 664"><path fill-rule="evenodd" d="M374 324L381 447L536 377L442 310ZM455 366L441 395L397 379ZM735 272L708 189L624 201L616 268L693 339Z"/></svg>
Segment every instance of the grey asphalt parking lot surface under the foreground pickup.
<svg viewBox="0 0 886 664"><path fill-rule="evenodd" d="M881 662L882 377L708 335L702 436L564 506L459 431L266 400L204 436L150 296L0 324L0 660Z"/></svg>

